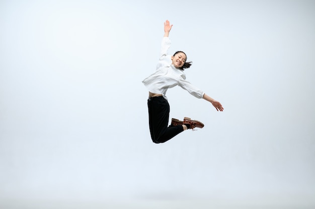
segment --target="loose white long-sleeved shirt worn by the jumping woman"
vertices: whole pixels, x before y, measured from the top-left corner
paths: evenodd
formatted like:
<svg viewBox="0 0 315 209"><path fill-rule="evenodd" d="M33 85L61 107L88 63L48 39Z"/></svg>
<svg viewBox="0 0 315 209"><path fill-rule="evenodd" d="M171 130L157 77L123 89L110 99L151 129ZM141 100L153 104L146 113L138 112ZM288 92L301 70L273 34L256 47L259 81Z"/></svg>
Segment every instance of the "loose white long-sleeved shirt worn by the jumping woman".
<svg viewBox="0 0 315 209"><path fill-rule="evenodd" d="M176 68L172 64L171 55L168 55L168 50L171 46L169 37L164 37L162 40L161 57L156 65L156 71L149 77L145 78L142 83L149 92L153 94L162 94L167 100L166 92L169 88L180 86L187 90L191 95L202 98L204 92L186 81L186 76L183 70Z"/></svg>

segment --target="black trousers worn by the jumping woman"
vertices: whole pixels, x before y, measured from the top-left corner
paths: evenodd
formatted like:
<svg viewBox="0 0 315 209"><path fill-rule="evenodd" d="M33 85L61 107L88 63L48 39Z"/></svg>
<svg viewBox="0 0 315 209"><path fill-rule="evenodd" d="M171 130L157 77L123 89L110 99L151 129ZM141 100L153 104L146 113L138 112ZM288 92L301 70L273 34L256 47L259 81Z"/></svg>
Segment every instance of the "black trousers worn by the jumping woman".
<svg viewBox="0 0 315 209"><path fill-rule="evenodd" d="M147 107L150 133L154 143L164 143L184 131L182 125L168 127L170 105L163 96L148 98Z"/></svg>

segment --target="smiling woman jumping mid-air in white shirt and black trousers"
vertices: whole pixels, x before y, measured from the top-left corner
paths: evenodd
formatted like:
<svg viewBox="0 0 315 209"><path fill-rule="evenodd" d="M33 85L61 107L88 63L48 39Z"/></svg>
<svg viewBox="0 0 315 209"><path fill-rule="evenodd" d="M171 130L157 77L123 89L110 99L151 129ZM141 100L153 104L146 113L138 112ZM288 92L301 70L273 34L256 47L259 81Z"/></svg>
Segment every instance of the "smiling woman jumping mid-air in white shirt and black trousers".
<svg viewBox="0 0 315 209"><path fill-rule="evenodd" d="M154 143L164 143L177 134L187 129L203 128L204 124L197 120L184 117L184 120L172 118L169 124L170 105L166 92L169 88L180 86L196 98L203 98L210 102L217 111L223 111L220 102L206 95L202 90L186 81L184 70L192 65L187 62L184 52L178 51L173 56L168 55L171 46L169 34L173 25L169 21L164 23L164 37L162 40L161 57L156 66L156 71L145 78L142 83L149 90L147 100L149 112L149 128Z"/></svg>

